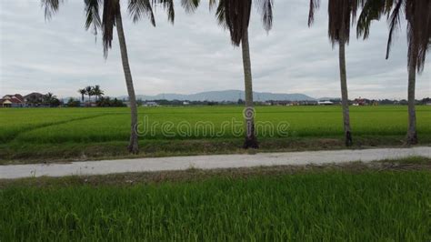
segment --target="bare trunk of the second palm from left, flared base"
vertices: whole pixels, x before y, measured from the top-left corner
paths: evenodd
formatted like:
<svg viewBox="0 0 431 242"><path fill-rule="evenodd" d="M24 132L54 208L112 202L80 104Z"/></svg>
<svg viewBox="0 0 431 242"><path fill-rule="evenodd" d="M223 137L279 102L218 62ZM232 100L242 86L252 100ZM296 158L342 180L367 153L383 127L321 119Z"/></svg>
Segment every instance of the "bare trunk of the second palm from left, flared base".
<svg viewBox="0 0 431 242"><path fill-rule="evenodd" d="M243 36L241 41L243 50L243 66L244 66L244 80L246 86L246 109L244 117L246 119L246 141L244 148L258 148L257 139L255 135L255 108L253 105L253 78L251 72L250 61L250 46L248 45L248 30Z"/></svg>

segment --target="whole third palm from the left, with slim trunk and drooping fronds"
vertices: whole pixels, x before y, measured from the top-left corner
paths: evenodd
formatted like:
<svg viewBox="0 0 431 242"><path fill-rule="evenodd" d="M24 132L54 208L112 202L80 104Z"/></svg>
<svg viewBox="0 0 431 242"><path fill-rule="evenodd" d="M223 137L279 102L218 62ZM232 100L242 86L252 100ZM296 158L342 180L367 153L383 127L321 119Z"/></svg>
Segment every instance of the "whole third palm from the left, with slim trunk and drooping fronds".
<svg viewBox="0 0 431 242"><path fill-rule="evenodd" d="M352 130L350 127L350 114L347 91L346 75L346 45L350 39L350 25L356 19L357 7L362 4L361 0L329 0L328 3L328 36L332 46L338 44L338 62L341 84L341 104L343 107L343 126L345 131L346 146L352 146ZM308 14L308 26L314 22L316 8L320 5L320 0L310 0L310 10Z"/></svg>

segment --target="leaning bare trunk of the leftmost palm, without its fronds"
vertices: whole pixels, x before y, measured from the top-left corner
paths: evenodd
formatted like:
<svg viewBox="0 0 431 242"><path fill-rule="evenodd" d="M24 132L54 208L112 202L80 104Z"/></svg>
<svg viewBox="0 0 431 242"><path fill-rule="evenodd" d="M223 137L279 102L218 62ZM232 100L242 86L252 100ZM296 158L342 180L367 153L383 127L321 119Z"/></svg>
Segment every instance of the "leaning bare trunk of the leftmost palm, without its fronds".
<svg viewBox="0 0 431 242"><path fill-rule="evenodd" d="M127 86L127 93L129 96L130 110L131 110L131 126L130 126L130 142L128 150L130 153L137 154L139 152L138 139L136 133L137 126L137 107L135 88L133 86L132 72L129 66L129 59L127 56L127 47L125 45L125 31L123 29L123 21L121 19L121 13L116 15L116 31L118 34L118 42L120 44L121 59L123 61L123 69L125 72L125 86Z"/></svg>

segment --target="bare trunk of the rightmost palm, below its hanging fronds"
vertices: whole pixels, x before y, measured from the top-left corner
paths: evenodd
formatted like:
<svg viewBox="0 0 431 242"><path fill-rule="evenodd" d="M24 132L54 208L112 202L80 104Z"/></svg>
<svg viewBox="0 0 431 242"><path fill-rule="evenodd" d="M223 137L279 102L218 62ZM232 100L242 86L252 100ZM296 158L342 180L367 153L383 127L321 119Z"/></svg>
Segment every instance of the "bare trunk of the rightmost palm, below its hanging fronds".
<svg viewBox="0 0 431 242"><path fill-rule="evenodd" d="M408 130L407 130L408 145L417 144L415 86L416 86L416 65L412 61L412 64L408 68Z"/></svg>

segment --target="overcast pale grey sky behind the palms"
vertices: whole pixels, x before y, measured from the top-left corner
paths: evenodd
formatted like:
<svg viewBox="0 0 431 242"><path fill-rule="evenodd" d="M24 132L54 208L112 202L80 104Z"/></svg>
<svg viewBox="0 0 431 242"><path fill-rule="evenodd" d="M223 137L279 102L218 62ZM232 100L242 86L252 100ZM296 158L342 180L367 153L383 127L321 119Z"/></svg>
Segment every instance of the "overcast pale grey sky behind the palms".
<svg viewBox="0 0 431 242"><path fill-rule="evenodd" d="M275 0L269 34L254 9L249 32L255 91L340 96L337 48L326 35L326 1L312 28L306 25L307 2ZM133 24L124 16L136 93L243 89L241 51L216 25L207 5L186 15L175 3L175 25L162 11L156 13L156 27L147 20ZM0 96L34 91L79 96L78 88L95 84L108 96L126 94L116 36L105 60L100 38L85 32L82 0L67 0L49 22L39 0L1 0L0 9ZM352 33L346 49L350 97L406 98L405 32L404 24L389 60L386 21L376 23L365 42ZM417 98L430 96L430 63L428 56L417 77Z"/></svg>

